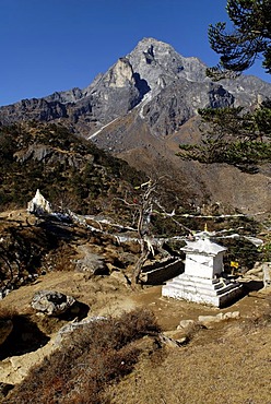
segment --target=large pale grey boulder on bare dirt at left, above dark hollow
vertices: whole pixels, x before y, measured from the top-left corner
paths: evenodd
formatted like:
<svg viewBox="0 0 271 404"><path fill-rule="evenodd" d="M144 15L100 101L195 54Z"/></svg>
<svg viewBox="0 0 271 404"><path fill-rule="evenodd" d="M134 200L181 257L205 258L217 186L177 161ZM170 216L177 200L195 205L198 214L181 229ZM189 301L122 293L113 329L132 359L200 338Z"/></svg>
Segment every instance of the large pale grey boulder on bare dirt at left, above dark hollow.
<svg viewBox="0 0 271 404"><path fill-rule="evenodd" d="M47 316L60 316L66 313L76 300L72 296L66 296L56 290L39 290L32 299L33 309Z"/></svg>

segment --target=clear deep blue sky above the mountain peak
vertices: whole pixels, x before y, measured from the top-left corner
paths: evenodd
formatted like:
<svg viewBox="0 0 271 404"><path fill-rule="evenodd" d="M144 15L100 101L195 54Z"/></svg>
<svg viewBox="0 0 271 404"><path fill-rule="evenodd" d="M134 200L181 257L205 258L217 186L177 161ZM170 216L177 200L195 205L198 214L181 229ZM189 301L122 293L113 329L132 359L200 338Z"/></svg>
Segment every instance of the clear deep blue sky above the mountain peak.
<svg viewBox="0 0 271 404"><path fill-rule="evenodd" d="M208 25L226 0L0 0L0 105L83 88L143 37L208 66ZM259 62L250 74L270 82Z"/></svg>

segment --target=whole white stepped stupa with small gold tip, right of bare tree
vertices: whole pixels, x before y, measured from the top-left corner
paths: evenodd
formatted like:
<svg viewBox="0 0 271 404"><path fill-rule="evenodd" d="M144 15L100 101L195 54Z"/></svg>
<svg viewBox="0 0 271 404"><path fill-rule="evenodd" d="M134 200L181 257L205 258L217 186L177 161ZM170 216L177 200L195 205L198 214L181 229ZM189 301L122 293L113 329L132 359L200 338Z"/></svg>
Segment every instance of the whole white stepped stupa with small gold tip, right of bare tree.
<svg viewBox="0 0 271 404"><path fill-rule="evenodd" d="M187 241L185 273L162 287L162 296L186 299L215 307L225 306L241 292L241 285L223 277L226 248L208 237Z"/></svg>

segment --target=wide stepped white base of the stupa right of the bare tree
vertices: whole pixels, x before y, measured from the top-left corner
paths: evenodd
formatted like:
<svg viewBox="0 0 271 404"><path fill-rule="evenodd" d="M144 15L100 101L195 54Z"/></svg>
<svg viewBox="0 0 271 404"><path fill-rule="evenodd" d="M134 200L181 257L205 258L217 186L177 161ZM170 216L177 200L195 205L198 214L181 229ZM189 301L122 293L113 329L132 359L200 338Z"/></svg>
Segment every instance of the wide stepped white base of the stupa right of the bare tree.
<svg viewBox="0 0 271 404"><path fill-rule="evenodd" d="M168 281L162 296L185 299L215 307L225 306L241 294L241 285L223 277L204 278L186 273Z"/></svg>

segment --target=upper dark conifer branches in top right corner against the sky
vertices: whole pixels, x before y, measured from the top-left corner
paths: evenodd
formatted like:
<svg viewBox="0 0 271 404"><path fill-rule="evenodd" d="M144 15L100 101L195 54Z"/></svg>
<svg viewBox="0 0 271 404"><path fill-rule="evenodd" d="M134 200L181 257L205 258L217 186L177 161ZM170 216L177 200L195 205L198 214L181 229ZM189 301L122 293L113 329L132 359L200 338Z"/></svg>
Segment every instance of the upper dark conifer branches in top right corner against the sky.
<svg viewBox="0 0 271 404"><path fill-rule="evenodd" d="M227 0L226 11L234 28L229 33L226 23L210 25L209 41L221 58L207 74L215 80L238 75L260 56L271 73L271 0Z"/></svg>

